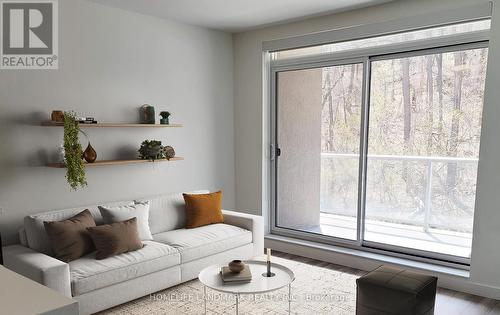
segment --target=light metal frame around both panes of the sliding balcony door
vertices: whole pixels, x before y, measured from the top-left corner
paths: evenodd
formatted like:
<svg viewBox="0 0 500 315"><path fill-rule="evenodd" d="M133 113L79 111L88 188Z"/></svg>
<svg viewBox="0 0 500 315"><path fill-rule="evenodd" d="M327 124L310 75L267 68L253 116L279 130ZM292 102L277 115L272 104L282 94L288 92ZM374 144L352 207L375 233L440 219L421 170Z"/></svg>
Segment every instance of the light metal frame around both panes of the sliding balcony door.
<svg viewBox="0 0 500 315"><path fill-rule="evenodd" d="M454 36L456 42L450 44L449 41L440 41L432 39L425 41L422 49L418 47L406 47L406 45L398 44L401 50L394 52L394 46L388 48L389 53L382 53L379 47L372 51L363 50L364 56L355 58L346 58L345 53L327 54L321 56L313 56L309 58L296 58L278 62L271 62L269 68L269 83L270 83L270 225L271 233L289 237L297 237L307 241L317 241L329 245L340 245L349 248L362 249L364 251L389 254L391 256L410 258L413 260L438 263L442 265L451 265L462 269L468 269L470 258L440 254L436 252L427 252L407 247L383 244L378 242L370 242L364 240L364 225L365 225L365 206L366 206L366 175L367 175L367 159L368 159L368 129L369 129L369 112L370 112L370 79L371 79L371 62L377 60L387 60L402 57L419 56L426 54L445 53L456 50L487 48L488 40L484 38L484 32L478 34L476 40L467 36ZM433 47L429 48L430 42ZM356 54L353 54L356 55ZM278 185L278 156L276 154L278 143L278 108L277 108L277 76L279 72L306 70L311 68L322 68L328 66L341 66L350 64L363 65L363 88L362 88L362 103L361 103L361 126L360 126L360 144L359 144L359 176L358 176L358 205L357 205L357 239L348 240L334 236L321 235L312 232L299 231L291 228L277 226L277 185Z"/></svg>

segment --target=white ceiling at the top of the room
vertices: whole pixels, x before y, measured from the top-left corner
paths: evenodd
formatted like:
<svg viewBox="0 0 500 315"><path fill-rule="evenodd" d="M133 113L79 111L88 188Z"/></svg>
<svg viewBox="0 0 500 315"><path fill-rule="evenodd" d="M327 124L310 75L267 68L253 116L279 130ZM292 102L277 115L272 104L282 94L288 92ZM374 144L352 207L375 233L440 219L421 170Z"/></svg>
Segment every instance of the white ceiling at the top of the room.
<svg viewBox="0 0 500 315"><path fill-rule="evenodd" d="M202 27L240 32L390 0L91 0Z"/></svg>

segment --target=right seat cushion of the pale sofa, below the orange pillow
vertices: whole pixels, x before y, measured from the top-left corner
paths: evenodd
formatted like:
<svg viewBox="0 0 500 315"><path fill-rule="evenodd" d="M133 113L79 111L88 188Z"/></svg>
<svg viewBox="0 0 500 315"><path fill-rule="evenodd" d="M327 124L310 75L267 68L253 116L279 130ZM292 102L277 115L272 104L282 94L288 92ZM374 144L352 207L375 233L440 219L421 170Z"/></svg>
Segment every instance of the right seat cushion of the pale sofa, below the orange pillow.
<svg viewBox="0 0 500 315"><path fill-rule="evenodd" d="M158 233L153 238L177 248L181 254L181 263L185 263L249 244L252 242L252 233L233 225L217 223Z"/></svg>

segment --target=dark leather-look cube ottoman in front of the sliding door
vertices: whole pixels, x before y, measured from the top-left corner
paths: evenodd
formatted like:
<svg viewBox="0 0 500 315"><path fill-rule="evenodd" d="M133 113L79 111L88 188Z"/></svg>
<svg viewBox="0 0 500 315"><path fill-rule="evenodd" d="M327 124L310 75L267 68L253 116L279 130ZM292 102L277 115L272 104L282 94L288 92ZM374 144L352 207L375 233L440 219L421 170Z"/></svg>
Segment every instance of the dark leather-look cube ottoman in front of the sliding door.
<svg viewBox="0 0 500 315"><path fill-rule="evenodd" d="M436 277L380 266L356 284L357 315L434 314Z"/></svg>

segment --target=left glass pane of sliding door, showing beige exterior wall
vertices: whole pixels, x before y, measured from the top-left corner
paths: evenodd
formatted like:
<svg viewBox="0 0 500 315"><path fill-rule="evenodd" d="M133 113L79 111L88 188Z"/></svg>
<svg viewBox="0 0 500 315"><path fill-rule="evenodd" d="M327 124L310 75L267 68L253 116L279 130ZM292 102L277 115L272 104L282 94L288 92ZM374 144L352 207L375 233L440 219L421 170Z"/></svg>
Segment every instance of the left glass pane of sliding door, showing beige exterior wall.
<svg viewBox="0 0 500 315"><path fill-rule="evenodd" d="M276 225L357 240L363 64L276 74Z"/></svg>

